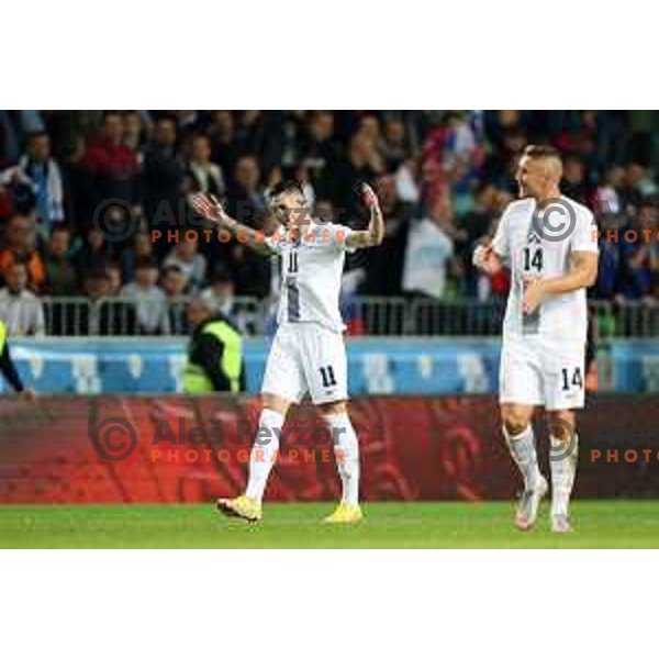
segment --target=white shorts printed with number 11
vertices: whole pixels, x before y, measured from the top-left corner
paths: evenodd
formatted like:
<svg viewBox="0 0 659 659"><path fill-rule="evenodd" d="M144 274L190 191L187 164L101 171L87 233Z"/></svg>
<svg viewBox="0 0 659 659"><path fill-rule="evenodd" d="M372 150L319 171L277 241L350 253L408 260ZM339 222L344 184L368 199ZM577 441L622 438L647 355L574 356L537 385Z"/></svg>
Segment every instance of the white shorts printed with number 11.
<svg viewBox="0 0 659 659"><path fill-rule="evenodd" d="M275 335L263 393L299 403L309 392L314 403L348 398L348 365L343 335L316 323L286 323Z"/></svg>

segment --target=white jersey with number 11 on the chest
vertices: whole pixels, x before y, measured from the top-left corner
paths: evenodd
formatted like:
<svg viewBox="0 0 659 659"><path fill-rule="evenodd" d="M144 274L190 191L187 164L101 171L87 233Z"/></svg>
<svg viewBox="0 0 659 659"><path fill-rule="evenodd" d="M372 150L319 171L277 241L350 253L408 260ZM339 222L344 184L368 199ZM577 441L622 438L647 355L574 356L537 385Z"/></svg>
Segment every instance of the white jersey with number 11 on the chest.
<svg viewBox="0 0 659 659"><path fill-rule="evenodd" d="M317 323L344 332L338 297L353 230L340 224L312 221L298 238L280 230L266 243L281 256L281 292L277 322Z"/></svg>

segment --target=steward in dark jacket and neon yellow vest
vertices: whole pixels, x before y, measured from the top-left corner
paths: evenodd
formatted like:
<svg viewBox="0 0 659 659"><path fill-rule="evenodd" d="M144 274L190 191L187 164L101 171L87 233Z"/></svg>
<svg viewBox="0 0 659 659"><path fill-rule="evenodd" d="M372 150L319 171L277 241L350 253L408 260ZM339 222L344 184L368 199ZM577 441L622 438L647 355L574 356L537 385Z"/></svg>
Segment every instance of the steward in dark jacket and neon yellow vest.
<svg viewBox="0 0 659 659"><path fill-rule="evenodd" d="M187 316L193 327L183 371L183 391L245 391L243 337L223 315L196 299L188 304Z"/></svg>

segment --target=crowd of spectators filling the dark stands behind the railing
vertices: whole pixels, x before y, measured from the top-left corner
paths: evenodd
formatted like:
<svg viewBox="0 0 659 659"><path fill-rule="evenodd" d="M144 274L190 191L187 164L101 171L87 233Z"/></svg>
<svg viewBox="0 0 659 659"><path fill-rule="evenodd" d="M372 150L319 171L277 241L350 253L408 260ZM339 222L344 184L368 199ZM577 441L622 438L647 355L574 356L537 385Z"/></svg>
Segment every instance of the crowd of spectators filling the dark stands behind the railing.
<svg viewBox="0 0 659 659"><path fill-rule="evenodd" d="M292 177L320 215L353 226L367 222L358 185L380 196L387 237L348 259L347 295L502 299L506 273L477 273L471 253L514 199L529 143L561 149L565 193L596 214L592 297L656 305L659 112L0 111L0 317L40 335L40 298L83 295L167 334L168 300L199 293L228 313L236 295L266 298L272 264L236 242L186 239L202 227L186 197L213 193L268 232L267 190Z"/></svg>

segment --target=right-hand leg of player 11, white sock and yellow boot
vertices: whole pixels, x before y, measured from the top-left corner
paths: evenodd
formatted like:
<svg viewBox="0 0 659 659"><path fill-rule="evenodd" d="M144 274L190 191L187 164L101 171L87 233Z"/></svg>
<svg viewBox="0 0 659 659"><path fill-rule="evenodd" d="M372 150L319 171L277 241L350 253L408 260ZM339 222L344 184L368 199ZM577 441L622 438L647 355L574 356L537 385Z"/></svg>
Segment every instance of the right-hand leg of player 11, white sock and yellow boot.
<svg viewBox="0 0 659 659"><path fill-rule="evenodd" d="M345 401L319 405L325 423L332 432L336 468L343 493L336 510L325 517L328 524L355 524L364 515L359 507L359 442L348 416Z"/></svg>

